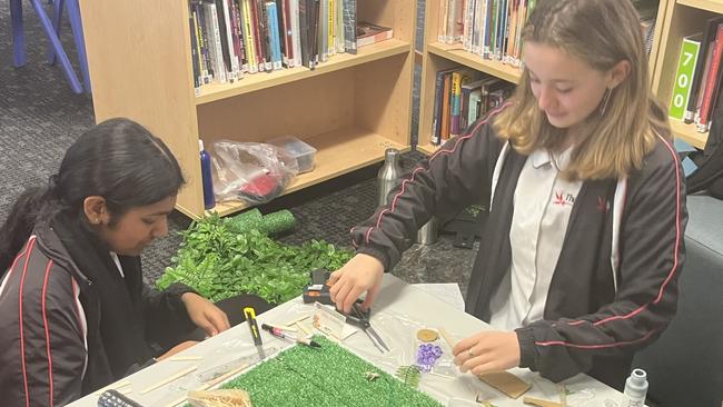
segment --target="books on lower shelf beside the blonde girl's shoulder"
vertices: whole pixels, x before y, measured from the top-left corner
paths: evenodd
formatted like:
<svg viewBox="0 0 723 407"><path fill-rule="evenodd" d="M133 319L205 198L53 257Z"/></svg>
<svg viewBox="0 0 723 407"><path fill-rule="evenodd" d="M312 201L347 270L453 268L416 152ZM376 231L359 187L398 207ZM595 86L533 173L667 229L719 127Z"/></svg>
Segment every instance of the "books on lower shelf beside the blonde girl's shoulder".
<svg viewBox="0 0 723 407"><path fill-rule="evenodd" d="M435 78L432 143L459 136L489 110L502 105L515 89L498 78L471 68L437 71Z"/></svg>

